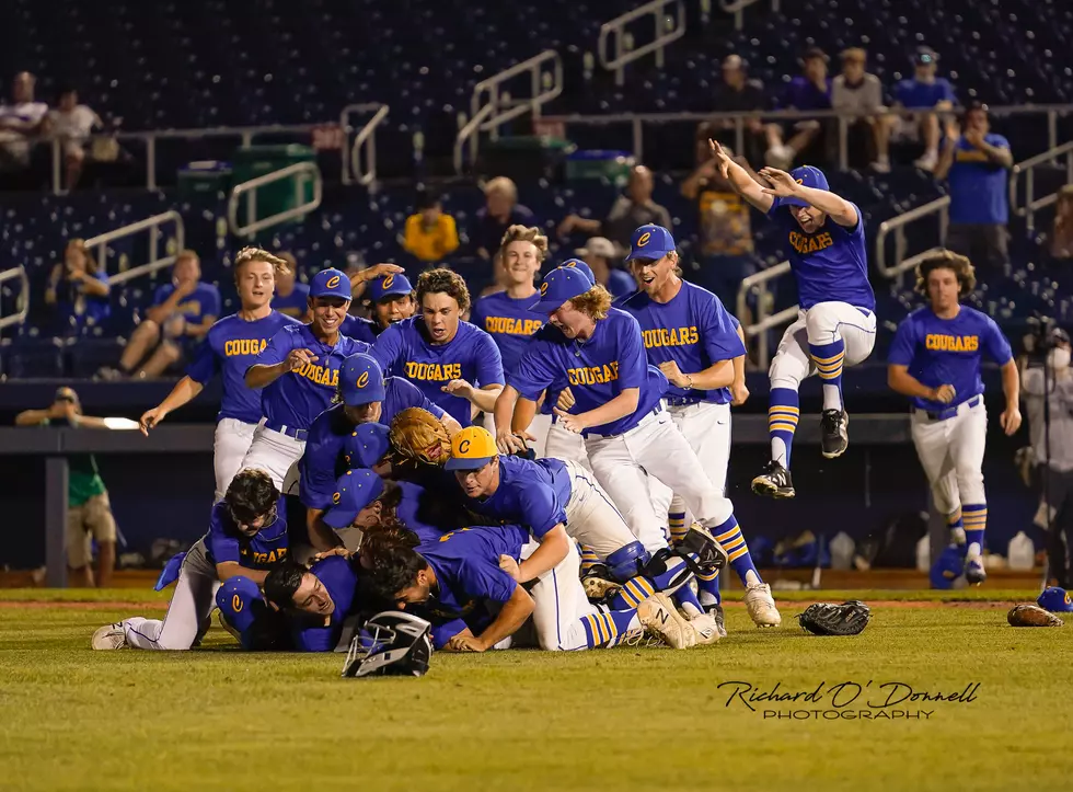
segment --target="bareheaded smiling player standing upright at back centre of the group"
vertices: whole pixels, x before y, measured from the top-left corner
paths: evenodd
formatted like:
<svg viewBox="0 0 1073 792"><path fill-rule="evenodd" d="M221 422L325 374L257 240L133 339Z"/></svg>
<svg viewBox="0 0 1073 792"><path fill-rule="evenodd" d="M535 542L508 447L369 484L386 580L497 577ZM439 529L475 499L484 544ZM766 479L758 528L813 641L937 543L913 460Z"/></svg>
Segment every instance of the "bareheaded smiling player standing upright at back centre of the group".
<svg viewBox="0 0 1073 792"><path fill-rule="evenodd" d="M509 372L532 334L547 317L529 310L536 295L533 280L547 257L547 237L536 227L511 226L503 236L499 261L504 272L504 291L482 297L473 305L470 321L484 330L499 347L504 372ZM544 439L551 425L551 412L533 415L526 425L538 457L544 456ZM492 411L484 413L484 427L495 434Z"/></svg>

